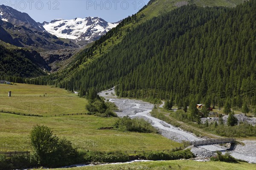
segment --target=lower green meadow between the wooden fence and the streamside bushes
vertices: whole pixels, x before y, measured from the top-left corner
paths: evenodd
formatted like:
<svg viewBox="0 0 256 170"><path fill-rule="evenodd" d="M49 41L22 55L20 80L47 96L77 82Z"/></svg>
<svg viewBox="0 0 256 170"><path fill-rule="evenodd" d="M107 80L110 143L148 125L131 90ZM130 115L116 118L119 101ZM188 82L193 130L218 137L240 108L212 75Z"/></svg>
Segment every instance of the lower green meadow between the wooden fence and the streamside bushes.
<svg viewBox="0 0 256 170"><path fill-rule="evenodd" d="M118 118L91 115L33 117L0 113L0 151L32 150L29 133L35 125L46 125L81 150L166 150L179 147L156 133L99 130L111 127Z"/></svg>

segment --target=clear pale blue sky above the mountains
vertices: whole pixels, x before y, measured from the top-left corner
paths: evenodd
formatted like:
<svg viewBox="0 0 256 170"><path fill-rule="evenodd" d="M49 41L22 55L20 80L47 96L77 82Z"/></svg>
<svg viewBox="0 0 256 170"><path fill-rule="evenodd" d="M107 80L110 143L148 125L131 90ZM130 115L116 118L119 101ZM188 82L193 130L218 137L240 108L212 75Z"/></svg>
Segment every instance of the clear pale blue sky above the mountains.
<svg viewBox="0 0 256 170"><path fill-rule="evenodd" d="M135 14L149 0L0 0L18 11L26 12L37 22L76 17L101 17L108 22Z"/></svg>

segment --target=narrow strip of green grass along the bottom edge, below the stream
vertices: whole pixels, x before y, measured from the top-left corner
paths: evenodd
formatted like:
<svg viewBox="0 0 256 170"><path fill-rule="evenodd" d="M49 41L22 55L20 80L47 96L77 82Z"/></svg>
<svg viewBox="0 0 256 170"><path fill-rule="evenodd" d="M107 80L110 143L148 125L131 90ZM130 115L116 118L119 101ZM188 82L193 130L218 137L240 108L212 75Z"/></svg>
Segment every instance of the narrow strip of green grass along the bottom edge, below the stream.
<svg viewBox="0 0 256 170"><path fill-rule="evenodd" d="M193 160L148 161L131 164L111 164L87 167L61 168L55 170L255 170L255 164L244 162L198 162Z"/></svg>

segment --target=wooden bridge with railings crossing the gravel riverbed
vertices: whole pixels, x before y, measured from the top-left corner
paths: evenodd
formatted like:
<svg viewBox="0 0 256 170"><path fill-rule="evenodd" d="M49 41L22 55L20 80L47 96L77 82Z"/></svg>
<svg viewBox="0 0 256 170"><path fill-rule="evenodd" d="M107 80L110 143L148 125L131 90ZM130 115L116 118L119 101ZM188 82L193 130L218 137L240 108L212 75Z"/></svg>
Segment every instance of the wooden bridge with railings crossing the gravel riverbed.
<svg viewBox="0 0 256 170"><path fill-rule="evenodd" d="M194 141L194 142L191 142L191 145L204 146L204 145L226 144L226 143L235 143L235 142L236 142L235 138L209 139L204 141Z"/></svg>

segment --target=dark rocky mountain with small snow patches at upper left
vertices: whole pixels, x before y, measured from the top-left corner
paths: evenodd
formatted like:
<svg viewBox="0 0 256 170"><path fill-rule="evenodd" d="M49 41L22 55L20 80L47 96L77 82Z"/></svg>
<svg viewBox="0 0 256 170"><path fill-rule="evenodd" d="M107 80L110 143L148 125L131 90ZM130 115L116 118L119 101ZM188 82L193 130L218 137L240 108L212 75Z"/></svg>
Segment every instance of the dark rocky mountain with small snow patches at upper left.
<svg viewBox="0 0 256 170"><path fill-rule="evenodd" d="M35 22L28 14L4 5L0 5L0 40L38 51L78 47L70 40L64 42L45 31L41 23Z"/></svg>

